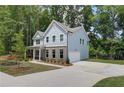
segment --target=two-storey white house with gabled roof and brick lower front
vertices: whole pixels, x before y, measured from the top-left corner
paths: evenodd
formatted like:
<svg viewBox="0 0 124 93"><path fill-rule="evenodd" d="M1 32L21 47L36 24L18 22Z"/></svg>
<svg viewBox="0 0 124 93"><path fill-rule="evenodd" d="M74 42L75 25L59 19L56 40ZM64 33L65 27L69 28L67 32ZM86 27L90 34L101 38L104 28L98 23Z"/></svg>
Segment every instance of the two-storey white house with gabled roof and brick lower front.
<svg viewBox="0 0 124 93"><path fill-rule="evenodd" d="M57 59L70 62L89 58L89 38L83 26L69 28L55 20L45 32L33 36L33 60Z"/></svg>

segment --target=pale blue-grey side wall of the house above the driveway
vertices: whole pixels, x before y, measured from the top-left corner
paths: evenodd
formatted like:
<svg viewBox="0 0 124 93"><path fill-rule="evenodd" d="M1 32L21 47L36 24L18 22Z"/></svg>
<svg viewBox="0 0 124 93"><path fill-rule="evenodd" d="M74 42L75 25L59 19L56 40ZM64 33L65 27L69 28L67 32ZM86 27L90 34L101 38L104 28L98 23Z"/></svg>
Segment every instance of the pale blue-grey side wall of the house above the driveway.
<svg viewBox="0 0 124 93"><path fill-rule="evenodd" d="M80 44L80 39L84 39L84 45ZM71 57L71 53L75 53L80 55L80 59L86 59L89 58L89 46L87 45L87 41L89 41L86 37L86 33L80 29L79 31L72 33L69 33L68 36L68 53L69 53L69 59ZM79 60L74 60L73 61L79 61ZM71 59L70 59L71 61ZM72 62L73 62L72 61Z"/></svg>

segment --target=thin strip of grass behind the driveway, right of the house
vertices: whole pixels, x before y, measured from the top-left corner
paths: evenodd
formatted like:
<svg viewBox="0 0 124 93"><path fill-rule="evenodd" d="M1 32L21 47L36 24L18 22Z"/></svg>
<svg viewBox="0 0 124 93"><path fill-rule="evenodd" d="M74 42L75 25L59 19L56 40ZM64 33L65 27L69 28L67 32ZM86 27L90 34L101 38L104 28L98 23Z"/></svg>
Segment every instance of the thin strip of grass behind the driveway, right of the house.
<svg viewBox="0 0 124 93"><path fill-rule="evenodd" d="M89 59L88 61L124 65L124 60Z"/></svg>

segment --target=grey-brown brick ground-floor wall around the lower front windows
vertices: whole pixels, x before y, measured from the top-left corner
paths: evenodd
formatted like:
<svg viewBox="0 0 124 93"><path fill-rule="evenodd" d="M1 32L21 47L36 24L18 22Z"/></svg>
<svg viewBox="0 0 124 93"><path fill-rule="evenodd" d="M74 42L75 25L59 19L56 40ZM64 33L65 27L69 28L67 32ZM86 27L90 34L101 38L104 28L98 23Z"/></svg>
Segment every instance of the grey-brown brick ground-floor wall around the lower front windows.
<svg viewBox="0 0 124 93"><path fill-rule="evenodd" d="M52 50L55 49L56 51L56 58L52 57ZM67 47L47 47L45 50L49 51L49 57L48 59L60 59L60 52L59 50L63 49L63 59L66 60L67 59Z"/></svg>

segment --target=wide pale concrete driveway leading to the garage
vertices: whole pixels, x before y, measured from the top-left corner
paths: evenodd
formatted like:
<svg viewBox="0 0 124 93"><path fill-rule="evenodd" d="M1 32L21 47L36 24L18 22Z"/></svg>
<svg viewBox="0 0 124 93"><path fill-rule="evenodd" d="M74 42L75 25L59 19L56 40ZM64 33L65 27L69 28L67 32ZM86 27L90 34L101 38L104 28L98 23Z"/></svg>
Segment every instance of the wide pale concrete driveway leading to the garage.
<svg viewBox="0 0 124 93"><path fill-rule="evenodd" d="M73 66L13 77L0 72L0 86L91 87L99 80L124 75L123 65L77 62Z"/></svg>

